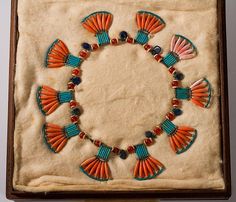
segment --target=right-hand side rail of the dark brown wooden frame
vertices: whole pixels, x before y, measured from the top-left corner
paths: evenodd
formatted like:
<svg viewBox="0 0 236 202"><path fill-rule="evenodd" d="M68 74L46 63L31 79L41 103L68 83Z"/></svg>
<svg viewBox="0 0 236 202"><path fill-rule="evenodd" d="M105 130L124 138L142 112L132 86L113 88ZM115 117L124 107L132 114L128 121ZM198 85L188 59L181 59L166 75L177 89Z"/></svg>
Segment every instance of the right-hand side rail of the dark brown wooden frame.
<svg viewBox="0 0 236 202"><path fill-rule="evenodd" d="M231 163L230 163L230 133L229 133L229 101L228 101L228 70L227 70L227 38L225 0L218 0L218 33L219 33L219 66L220 66L220 115L222 134L223 174L225 193L231 196Z"/></svg>

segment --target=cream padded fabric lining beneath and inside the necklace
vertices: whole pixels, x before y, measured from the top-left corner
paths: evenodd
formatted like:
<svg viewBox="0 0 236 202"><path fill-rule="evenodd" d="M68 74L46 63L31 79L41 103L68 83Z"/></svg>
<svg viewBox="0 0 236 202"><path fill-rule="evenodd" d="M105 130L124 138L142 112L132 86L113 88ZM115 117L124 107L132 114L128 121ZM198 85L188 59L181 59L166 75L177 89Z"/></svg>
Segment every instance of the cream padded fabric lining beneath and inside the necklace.
<svg viewBox="0 0 236 202"><path fill-rule="evenodd" d="M135 155L122 160L111 156L109 165L113 180L98 182L85 176L79 165L94 156L97 148L78 137L54 154L43 143L42 125L70 123L67 104L44 117L36 103L36 89L48 85L66 90L71 68L44 68L49 45L63 40L74 55L82 42L96 42L80 21L88 14L106 10L113 14L111 37L126 30L137 32L135 14L148 10L160 15L166 27L150 44L169 50L175 33L191 39L198 56L181 61L176 68L185 74L184 86L207 77L211 82L213 102L210 109L183 102L183 115L176 125L197 129L198 138L185 153L171 150L166 134L148 148L166 170L155 179L136 181L132 172ZM19 0L19 42L15 76L16 124L14 135L14 188L39 192L60 190L151 190L151 189L223 189L220 156L219 71L217 53L216 0ZM141 143L144 132L163 120L170 109L173 90L167 69L158 64L138 45L107 46L85 61L82 84L76 88L76 99L84 109L80 126L94 138L109 145L126 148Z"/></svg>

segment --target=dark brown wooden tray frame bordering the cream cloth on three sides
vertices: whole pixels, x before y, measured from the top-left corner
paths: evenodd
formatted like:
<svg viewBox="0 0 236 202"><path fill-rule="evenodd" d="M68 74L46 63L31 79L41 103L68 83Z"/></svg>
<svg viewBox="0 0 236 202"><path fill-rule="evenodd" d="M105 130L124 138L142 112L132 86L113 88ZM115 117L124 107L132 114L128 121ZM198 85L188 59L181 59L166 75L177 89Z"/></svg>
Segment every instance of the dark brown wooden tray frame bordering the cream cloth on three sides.
<svg viewBox="0 0 236 202"><path fill-rule="evenodd" d="M16 64L16 48L18 41L17 2L12 0L11 14L11 47L9 69L9 109L8 109L8 147L7 147L7 182L6 197L8 199L63 199L63 198L158 198L158 199L228 199L231 196L230 172L230 136L229 136L229 107L228 107L228 78L227 78L227 52L226 52L226 21L225 0L218 1L218 32L219 32L219 66L220 66L220 116L222 133L222 158L223 175L225 180L224 190L212 189L181 189L181 190L156 190L156 191L62 191L30 193L13 189L14 169L14 75Z"/></svg>

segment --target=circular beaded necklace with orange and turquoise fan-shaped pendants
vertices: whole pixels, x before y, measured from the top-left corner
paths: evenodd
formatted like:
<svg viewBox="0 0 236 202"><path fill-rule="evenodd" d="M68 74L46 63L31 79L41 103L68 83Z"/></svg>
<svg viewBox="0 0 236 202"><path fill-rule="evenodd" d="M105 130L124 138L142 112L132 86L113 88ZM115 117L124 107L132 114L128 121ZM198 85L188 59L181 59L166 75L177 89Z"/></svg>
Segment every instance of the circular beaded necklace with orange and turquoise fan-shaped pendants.
<svg viewBox="0 0 236 202"><path fill-rule="evenodd" d="M56 91L49 86L40 86L37 89L37 103L41 112L46 116L53 113L61 104L69 103L71 111L71 124L64 127L53 123L46 123L43 126L44 141L48 148L58 153L67 141L79 136L83 140L91 141L97 146L96 156L83 161L80 169L92 179L107 181L112 179L108 160L111 153L126 159L128 154L136 153L137 162L134 166L133 175L137 180L151 179L165 170L165 166L153 158L147 147L155 143L155 139L165 132L168 136L170 146L176 154L188 150L197 137L197 130L189 126L176 126L172 121L182 114L181 100L191 100L195 105L207 108L211 100L211 86L206 78L194 82L190 87L182 87L181 81L184 75L174 65L180 60L191 59L196 56L197 50L194 44L181 35L174 35L171 40L170 51L162 56L162 48L158 45L148 44L149 36L154 35L165 27L164 20L151 12L138 11L136 23L138 32L132 38L126 31L122 31L118 38L110 38L108 30L112 24L112 14L106 11L99 11L90 14L82 20L82 26L93 33L98 43L82 43L82 50L79 57L70 53L65 43L59 39L55 40L46 53L45 66L47 68L60 68L63 66L72 67L67 89L68 91ZM75 100L74 88L81 83L81 64L88 59L92 52L99 50L105 45L122 45L124 43L142 45L144 50L153 55L153 58L163 64L173 76L171 87L175 97L171 100L171 110L166 113L163 121L145 132L145 138L137 145L130 145L126 149L117 146L109 146L100 140L93 139L91 135L82 131L79 127L80 106Z"/></svg>

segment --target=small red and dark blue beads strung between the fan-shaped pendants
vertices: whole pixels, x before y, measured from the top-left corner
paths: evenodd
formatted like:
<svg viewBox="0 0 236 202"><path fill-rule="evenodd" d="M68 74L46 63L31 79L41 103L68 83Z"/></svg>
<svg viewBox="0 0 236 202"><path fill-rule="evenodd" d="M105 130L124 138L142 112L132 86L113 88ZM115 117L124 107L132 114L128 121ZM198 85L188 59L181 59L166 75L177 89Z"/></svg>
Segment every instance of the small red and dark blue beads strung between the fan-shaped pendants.
<svg viewBox="0 0 236 202"><path fill-rule="evenodd" d="M134 38L130 37L129 34L126 31L122 31L119 34L119 38L112 38L110 39L110 43L107 45L118 45L121 42L126 42L130 44L135 44L136 41ZM152 46L148 43L142 45L144 50L147 52L151 53L154 57L154 59L158 62L162 62L162 48L158 45ZM90 53L92 51L96 51L99 49L99 44L89 44L89 43L82 43L82 48L79 52L79 56L81 57L82 60L87 59L90 56ZM178 72L175 67L171 66L168 69L169 73L173 75L174 80L171 83L171 87L173 89L176 89L181 86L181 80L184 78L183 74ZM79 85L81 83L81 69L79 68L74 68L72 70L72 78L68 83L68 89L74 91L74 87L76 85ZM181 107L181 101L173 98L171 101L172 104L172 110L169 111L165 115L165 120L174 120L176 116L179 116L182 114L182 110L180 109ZM70 101L70 108L71 108L71 121L73 123L78 123L78 116L81 114L81 111L78 107L78 103L75 100ZM152 130L146 131L145 132L145 138L143 139L143 144L146 146L151 146L155 143L155 139L160 136L163 132L162 129L162 123L160 125L157 125L153 127ZM90 135L86 134L85 132L80 132L79 134L80 139L84 140L90 140L95 146L100 147L101 145L106 145L105 143L101 142L100 140L95 140L93 139ZM108 146L108 145L107 145ZM108 146L110 147L110 146ZM111 152L114 153L115 155L118 155L121 159L126 159L128 154L133 154L136 152L136 146L135 145L130 145L127 147L126 150L120 149L116 146L112 146Z"/></svg>

